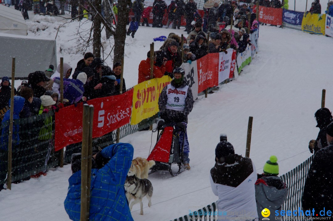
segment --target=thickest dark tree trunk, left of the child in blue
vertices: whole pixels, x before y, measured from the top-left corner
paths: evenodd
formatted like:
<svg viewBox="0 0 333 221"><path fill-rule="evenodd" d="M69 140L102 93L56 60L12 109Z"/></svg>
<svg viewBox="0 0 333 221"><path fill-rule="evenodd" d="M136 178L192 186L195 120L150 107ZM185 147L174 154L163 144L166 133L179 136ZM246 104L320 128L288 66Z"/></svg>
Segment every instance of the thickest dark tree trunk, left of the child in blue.
<svg viewBox="0 0 333 221"><path fill-rule="evenodd" d="M130 12L131 0L118 1L118 24L114 35L114 61L121 61L125 51L126 25Z"/></svg>

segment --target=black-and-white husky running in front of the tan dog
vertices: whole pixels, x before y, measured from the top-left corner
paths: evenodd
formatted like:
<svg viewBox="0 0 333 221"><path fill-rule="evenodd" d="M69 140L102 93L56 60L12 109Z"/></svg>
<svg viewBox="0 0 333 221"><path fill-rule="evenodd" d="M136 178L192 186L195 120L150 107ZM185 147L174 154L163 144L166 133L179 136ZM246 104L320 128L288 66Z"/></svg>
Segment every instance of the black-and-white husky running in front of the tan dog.
<svg viewBox="0 0 333 221"><path fill-rule="evenodd" d="M140 202L140 215L144 214L142 198L144 196L149 200L148 206L152 205L153 185L148 179L139 179L136 176L128 176L125 181L125 193L128 202L134 198L134 201L130 204L130 210L134 204Z"/></svg>

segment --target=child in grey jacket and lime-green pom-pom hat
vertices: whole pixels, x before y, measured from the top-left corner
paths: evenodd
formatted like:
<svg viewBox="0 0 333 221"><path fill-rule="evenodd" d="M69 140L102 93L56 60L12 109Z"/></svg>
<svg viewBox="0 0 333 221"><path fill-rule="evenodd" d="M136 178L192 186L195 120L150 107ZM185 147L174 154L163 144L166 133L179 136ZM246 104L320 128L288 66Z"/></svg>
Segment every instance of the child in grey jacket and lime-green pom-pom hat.
<svg viewBox="0 0 333 221"><path fill-rule="evenodd" d="M278 211L280 214L281 206L288 196L287 185L279 175L279 164L276 156L270 156L264 165L264 172L258 175L255 182L255 199L257 201L257 211L259 219L263 220L261 211L265 208L270 211ZM271 213L267 218L274 220L275 217L282 219L281 215L276 216Z"/></svg>

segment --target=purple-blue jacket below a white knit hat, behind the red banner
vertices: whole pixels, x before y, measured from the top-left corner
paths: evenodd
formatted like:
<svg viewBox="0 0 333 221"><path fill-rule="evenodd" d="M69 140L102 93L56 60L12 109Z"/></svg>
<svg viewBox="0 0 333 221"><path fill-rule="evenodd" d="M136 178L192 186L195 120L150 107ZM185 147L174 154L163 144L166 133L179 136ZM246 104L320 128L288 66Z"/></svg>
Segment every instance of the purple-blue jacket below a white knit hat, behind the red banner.
<svg viewBox="0 0 333 221"><path fill-rule="evenodd" d="M60 78L54 78L54 82L60 84ZM80 101L84 93L83 85L80 80L64 78L64 99L70 104Z"/></svg>

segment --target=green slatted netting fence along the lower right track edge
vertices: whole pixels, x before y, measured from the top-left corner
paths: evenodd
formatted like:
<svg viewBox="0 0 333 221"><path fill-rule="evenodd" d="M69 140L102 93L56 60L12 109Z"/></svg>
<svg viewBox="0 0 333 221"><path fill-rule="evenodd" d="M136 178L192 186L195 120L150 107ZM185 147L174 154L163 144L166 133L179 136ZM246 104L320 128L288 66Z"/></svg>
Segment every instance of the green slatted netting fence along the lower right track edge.
<svg viewBox="0 0 333 221"><path fill-rule="evenodd" d="M313 155L305 160L294 169L280 176L280 178L287 184L288 196L282 204L282 210L298 210L298 207L302 209L302 194L304 190L304 183L308 171L310 169ZM171 221L184 221L184 220L218 220L217 218L216 202L203 207L197 211L193 211L188 215L179 217ZM216 216L214 216L216 214ZM289 218L289 219L288 219ZM294 220L306 220L305 216L293 216ZM290 217L282 216L282 220L290 220Z"/></svg>

